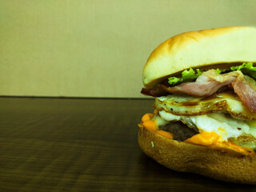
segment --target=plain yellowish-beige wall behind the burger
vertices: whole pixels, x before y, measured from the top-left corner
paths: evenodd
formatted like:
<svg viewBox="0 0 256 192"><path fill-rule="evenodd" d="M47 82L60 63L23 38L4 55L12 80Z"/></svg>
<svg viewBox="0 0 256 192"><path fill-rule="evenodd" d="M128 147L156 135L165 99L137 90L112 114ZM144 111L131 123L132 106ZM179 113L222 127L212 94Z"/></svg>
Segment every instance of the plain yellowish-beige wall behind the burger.
<svg viewBox="0 0 256 192"><path fill-rule="evenodd" d="M0 1L0 95L139 98L174 34L256 26L255 0Z"/></svg>

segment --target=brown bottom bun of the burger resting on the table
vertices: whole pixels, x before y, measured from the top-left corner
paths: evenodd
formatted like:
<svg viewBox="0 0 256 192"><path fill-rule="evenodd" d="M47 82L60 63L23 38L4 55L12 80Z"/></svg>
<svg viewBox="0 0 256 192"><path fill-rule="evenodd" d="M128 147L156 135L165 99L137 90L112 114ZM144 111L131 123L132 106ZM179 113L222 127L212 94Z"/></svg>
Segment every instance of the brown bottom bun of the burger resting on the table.
<svg viewBox="0 0 256 192"><path fill-rule="evenodd" d="M143 152L171 170L202 174L226 182L256 184L256 155L164 138L139 125Z"/></svg>

